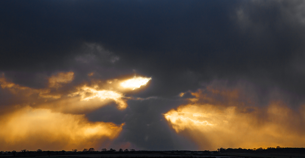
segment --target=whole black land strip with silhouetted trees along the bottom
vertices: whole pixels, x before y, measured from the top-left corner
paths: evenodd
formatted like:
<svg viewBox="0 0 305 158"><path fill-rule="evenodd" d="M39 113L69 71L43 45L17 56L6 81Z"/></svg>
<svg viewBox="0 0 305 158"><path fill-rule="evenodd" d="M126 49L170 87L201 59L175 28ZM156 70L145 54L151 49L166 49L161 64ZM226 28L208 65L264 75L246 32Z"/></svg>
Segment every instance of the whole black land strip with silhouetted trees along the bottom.
<svg viewBox="0 0 305 158"><path fill-rule="evenodd" d="M259 149L224 149L220 148L217 151L116 151L113 149L103 151L94 151L93 148L83 151L28 151L26 149L20 152L0 152L0 158L11 158L11 157L35 157L35 158L228 158L228 157L245 157L245 158L305 158L305 148L259 148Z"/></svg>

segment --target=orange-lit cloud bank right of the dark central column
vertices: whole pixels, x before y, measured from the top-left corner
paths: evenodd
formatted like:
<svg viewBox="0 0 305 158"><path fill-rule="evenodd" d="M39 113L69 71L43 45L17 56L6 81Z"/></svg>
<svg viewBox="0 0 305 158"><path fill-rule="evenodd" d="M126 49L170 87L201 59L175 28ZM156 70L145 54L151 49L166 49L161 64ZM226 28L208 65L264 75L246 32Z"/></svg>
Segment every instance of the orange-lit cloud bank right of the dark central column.
<svg viewBox="0 0 305 158"><path fill-rule="evenodd" d="M248 106L238 101L239 89L208 87L192 95L189 104L171 109L164 117L178 134L195 141L199 150L305 145L304 110L296 112L281 101L270 101L266 108Z"/></svg>

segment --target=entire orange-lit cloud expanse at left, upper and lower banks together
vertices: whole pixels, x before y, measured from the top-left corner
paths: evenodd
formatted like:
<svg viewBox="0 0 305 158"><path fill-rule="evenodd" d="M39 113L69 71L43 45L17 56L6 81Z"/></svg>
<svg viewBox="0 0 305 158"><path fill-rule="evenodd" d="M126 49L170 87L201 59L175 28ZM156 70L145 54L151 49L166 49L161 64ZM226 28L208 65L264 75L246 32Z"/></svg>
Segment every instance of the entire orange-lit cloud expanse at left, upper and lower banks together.
<svg viewBox="0 0 305 158"><path fill-rule="evenodd" d="M90 122L84 114L110 102L116 103L120 110L125 109L126 101L132 97L124 96L127 90L121 90L120 79L113 79L112 83L95 80L73 85L74 77L74 72L59 72L48 78L46 88L35 89L9 82L2 75L1 89L23 102L0 109L3 113L0 148L8 151L98 149L104 142L117 138L124 123Z"/></svg>

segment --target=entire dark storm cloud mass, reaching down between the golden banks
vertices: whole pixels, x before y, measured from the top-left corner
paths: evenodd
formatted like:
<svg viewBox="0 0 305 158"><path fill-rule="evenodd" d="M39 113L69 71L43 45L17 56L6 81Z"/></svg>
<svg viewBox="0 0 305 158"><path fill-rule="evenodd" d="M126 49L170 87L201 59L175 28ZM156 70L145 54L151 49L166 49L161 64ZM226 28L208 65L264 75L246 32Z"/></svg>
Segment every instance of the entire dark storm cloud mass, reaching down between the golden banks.
<svg viewBox="0 0 305 158"><path fill-rule="evenodd" d="M154 98L128 101L124 111L104 106L88 118L125 122L117 143L197 149L174 145L184 138L161 120L185 103L181 92L190 98L189 90L221 81L242 84L253 106L303 103L303 10L303 1L1 1L0 71L32 88L58 72L73 71L72 85L152 77L145 90L127 95ZM12 104L0 94L0 106Z"/></svg>

